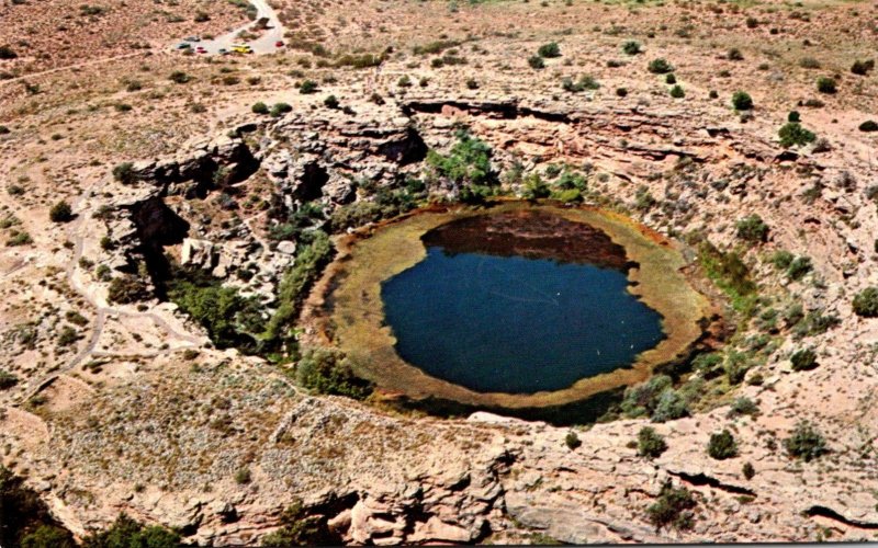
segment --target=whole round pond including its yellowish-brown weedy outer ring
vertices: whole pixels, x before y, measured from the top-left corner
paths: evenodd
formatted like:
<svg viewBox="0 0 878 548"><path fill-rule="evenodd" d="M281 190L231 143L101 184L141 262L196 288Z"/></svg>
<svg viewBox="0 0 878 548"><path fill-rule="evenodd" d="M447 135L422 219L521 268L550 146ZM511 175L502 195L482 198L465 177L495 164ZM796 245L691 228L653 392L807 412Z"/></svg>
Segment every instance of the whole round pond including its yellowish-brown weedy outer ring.
<svg viewBox="0 0 878 548"><path fill-rule="evenodd" d="M415 399L583 400L685 355L709 309L669 242L598 209L419 212L337 243L306 321Z"/></svg>

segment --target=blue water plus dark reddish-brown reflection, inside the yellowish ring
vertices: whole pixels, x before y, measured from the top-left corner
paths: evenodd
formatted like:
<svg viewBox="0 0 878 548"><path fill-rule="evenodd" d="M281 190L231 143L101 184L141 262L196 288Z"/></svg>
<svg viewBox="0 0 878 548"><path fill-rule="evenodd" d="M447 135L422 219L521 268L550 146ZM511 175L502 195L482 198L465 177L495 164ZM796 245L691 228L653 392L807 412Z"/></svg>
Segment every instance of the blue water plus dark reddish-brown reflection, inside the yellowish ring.
<svg viewBox="0 0 878 548"><path fill-rule="evenodd" d="M628 289L624 250L587 225L529 213L435 228L426 256L381 285L405 362L477 392L533 393L628 367L663 339Z"/></svg>

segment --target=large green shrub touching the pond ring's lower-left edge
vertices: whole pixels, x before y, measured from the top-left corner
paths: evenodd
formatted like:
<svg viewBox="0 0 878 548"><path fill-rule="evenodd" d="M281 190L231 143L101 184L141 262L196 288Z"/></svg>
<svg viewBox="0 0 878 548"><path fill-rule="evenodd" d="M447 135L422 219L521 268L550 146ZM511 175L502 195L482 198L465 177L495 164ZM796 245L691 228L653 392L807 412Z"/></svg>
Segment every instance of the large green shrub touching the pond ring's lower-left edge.
<svg viewBox="0 0 878 548"><path fill-rule="evenodd" d="M372 384L354 375L345 354L335 349L307 349L295 366L299 385L318 393L347 396L363 400L372 393Z"/></svg>

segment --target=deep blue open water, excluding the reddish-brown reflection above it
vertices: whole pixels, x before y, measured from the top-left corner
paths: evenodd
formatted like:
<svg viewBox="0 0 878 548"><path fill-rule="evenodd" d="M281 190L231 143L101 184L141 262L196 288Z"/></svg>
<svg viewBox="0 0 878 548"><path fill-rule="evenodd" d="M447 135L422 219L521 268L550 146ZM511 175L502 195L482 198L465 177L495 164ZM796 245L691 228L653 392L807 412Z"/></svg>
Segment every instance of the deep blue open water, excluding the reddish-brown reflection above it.
<svg viewBox="0 0 878 548"><path fill-rule="evenodd" d="M629 366L664 338L627 285L620 270L430 247L382 299L409 364L480 392L532 393Z"/></svg>

